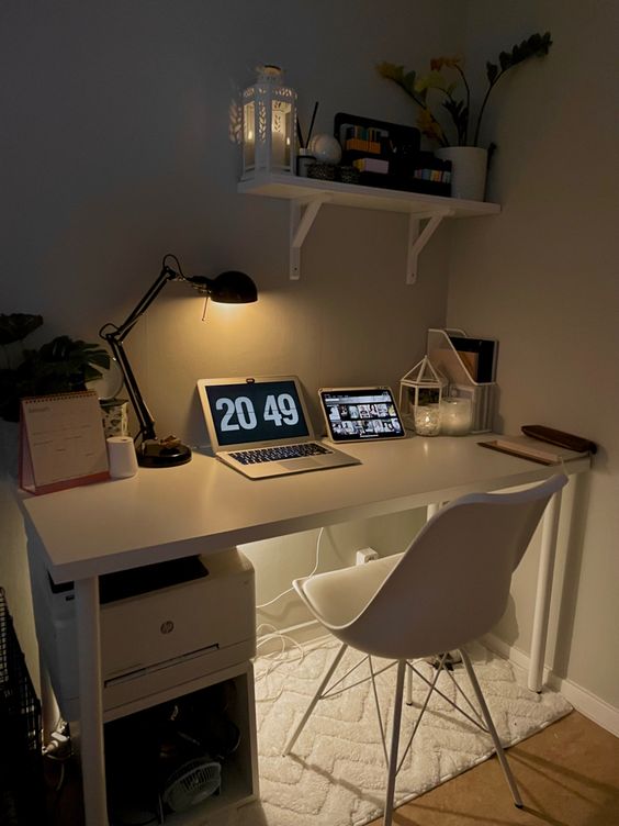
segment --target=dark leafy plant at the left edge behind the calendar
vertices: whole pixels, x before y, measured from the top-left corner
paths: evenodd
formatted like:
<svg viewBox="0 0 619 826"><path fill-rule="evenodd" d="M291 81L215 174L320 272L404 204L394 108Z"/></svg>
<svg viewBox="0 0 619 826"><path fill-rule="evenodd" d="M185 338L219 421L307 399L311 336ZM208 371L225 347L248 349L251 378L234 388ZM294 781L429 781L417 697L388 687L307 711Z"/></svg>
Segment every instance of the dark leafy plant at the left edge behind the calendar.
<svg viewBox="0 0 619 826"><path fill-rule="evenodd" d="M0 368L0 418L18 422L20 399L85 390L102 377L98 368L110 367L109 353L97 344L58 336L38 349L26 349L23 341L43 324L41 315L0 314L0 345L4 366Z"/></svg>

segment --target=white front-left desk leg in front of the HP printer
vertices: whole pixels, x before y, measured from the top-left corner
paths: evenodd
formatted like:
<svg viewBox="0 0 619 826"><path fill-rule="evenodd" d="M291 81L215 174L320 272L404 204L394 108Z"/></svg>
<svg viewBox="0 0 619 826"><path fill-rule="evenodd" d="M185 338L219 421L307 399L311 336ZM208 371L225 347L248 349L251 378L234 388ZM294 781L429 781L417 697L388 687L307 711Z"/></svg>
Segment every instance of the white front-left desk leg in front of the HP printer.
<svg viewBox="0 0 619 826"><path fill-rule="evenodd" d="M79 657L79 723L86 826L108 826L105 762L103 757L103 702L99 580L76 581L76 618Z"/></svg>

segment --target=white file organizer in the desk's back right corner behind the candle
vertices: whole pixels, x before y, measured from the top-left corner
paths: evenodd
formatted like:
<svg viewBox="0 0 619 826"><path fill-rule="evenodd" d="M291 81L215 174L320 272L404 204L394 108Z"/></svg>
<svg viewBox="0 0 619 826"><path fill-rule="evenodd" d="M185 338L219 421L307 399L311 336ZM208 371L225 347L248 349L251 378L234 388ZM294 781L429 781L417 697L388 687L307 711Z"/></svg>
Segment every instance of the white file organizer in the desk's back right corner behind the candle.
<svg viewBox="0 0 619 826"><path fill-rule="evenodd" d="M449 395L471 399L472 433L492 431L496 381L475 381L458 350L451 344L450 333L465 336L462 330L428 330L427 354L432 365L449 382Z"/></svg>

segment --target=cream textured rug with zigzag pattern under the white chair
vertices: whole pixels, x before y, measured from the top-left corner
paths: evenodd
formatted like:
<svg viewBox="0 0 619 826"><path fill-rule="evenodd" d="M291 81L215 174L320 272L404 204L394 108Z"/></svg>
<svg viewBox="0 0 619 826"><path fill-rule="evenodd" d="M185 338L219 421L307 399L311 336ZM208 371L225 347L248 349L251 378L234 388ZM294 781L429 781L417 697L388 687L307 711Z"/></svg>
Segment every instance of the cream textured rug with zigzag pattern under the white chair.
<svg viewBox="0 0 619 826"><path fill-rule="evenodd" d="M371 683L320 701L292 754L281 756L335 650L329 640L306 647L303 657L291 651L277 661L256 661L260 801L220 816L216 826L362 826L381 816L386 769ZM468 650L505 746L519 743L571 711L560 694L530 692L506 660L477 645ZM344 673L359 657L348 650L337 673ZM374 660L375 670L381 665L385 662ZM435 671L429 663L418 667L428 679L432 678ZM357 673L349 681L359 679ZM363 676L367 673L365 670ZM457 665L453 674L470 696L463 667ZM386 730L391 733L395 669L380 674L378 683L383 723L386 717ZM438 688L457 699L458 690L448 674L440 674ZM414 704L403 710L401 754L425 693L424 682L415 678ZM459 704L463 705L460 701ZM396 805L492 754L489 736L435 693L397 777ZM509 793L507 786L505 792Z"/></svg>

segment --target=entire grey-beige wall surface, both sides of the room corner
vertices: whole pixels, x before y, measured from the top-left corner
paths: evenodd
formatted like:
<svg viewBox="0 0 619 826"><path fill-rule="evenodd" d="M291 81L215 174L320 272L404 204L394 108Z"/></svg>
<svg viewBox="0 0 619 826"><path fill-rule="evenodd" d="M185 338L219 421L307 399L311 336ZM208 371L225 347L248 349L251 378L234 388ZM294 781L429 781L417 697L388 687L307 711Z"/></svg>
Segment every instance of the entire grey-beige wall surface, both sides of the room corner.
<svg viewBox="0 0 619 826"><path fill-rule="evenodd" d="M410 288L402 216L327 206L303 248L302 280L290 282L286 205L236 192L229 129L239 89L258 63L274 62L299 91L305 125L316 99L318 131L330 131L337 111L413 123L407 100L373 65L423 67L462 53L468 8L473 71L531 31L550 29L555 41L548 60L505 81L488 112L486 137L500 147L489 194L503 213L441 227ZM608 656L619 624L616 12L573 0L4 3L0 312L41 312L40 342L60 333L94 341L101 324L125 317L167 252L189 274L250 272L257 305L235 317L211 308L203 325L200 302L171 284L128 341L160 434L199 444L200 377L294 371L311 399L323 383L396 384L423 355L426 328L446 322L449 276L449 323L500 339L506 429L543 421L603 445L584 491L584 543L560 560L567 607L553 616L551 656L556 648L565 674L619 706ZM11 528L0 540L0 581L23 614L30 651L23 537L9 505L2 518ZM349 559L357 545L395 549L416 518L334 529L325 563ZM251 549L259 600L300 572L291 548L301 572L311 569L315 539ZM500 627L524 649L534 561ZM295 622L294 612L286 605L273 618Z"/></svg>

